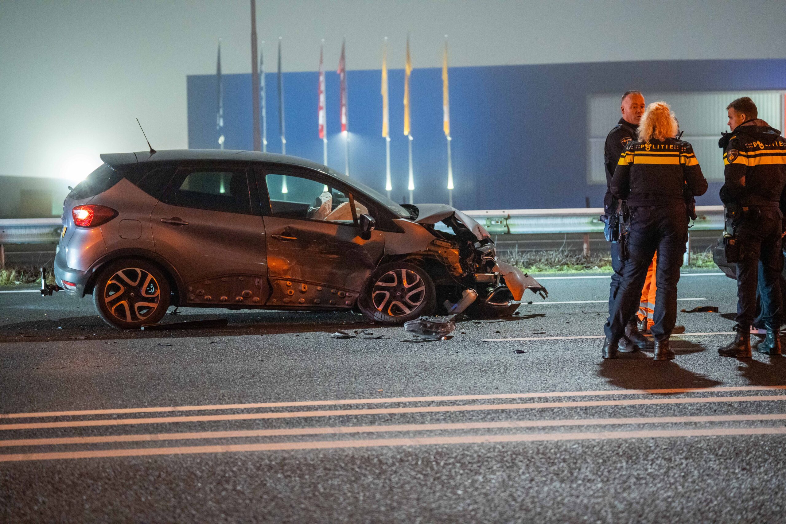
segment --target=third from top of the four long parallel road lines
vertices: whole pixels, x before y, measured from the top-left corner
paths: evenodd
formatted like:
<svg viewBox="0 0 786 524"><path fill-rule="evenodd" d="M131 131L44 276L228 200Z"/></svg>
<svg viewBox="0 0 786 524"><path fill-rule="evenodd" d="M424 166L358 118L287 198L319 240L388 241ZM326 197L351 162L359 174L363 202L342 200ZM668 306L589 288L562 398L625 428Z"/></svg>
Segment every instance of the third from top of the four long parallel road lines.
<svg viewBox="0 0 786 524"><path fill-rule="evenodd" d="M162 442L171 440L204 440L210 438L285 437L321 434L391 433L395 431L455 431L495 429L501 427L619 426L626 424L747 422L751 420L786 420L786 413L767 415L641 416L620 419L504 420L500 422L386 424L376 426L299 427L276 430L125 434L108 435L105 437L20 438L16 440L0 440L0 447L100 444L106 442Z"/></svg>

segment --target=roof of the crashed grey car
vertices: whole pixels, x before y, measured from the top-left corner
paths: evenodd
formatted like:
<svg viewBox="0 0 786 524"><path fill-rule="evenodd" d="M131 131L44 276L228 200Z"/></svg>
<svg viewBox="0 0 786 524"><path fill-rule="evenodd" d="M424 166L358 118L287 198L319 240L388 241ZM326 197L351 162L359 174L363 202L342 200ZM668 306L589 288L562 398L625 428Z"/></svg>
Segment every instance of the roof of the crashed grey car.
<svg viewBox="0 0 786 524"><path fill-rule="evenodd" d="M312 162L299 156L233 149L163 149L152 154L149 151L102 153L101 160L112 167L145 162L177 162L179 160L243 160L246 162L285 163L323 172L327 171L327 168L321 163Z"/></svg>

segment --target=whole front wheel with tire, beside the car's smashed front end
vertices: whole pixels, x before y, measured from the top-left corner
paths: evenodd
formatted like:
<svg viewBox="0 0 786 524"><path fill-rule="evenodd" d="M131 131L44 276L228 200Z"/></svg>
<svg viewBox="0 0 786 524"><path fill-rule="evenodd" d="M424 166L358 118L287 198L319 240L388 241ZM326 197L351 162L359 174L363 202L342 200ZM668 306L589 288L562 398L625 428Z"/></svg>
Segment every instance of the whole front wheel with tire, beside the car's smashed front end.
<svg viewBox="0 0 786 524"><path fill-rule="evenodd" d="M425 269L409 262L390 262L376 268L365 282L358 307L370 320L404 324L434 314L436 291Z"/></svg>

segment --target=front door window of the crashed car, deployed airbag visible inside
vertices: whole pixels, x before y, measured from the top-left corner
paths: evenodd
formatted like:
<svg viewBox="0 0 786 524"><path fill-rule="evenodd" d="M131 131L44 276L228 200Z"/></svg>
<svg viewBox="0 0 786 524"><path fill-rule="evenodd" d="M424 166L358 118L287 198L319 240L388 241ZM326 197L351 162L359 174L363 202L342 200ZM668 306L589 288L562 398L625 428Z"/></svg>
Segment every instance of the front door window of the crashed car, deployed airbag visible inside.
<svg viewBox="0 0 786 524"><path fill-rule="evenodd" d="M288 174L266 174L265 184L274 216L301 220L352 223L349 195L321 181ZM356 214L369 208L354 200Z"/></svg>

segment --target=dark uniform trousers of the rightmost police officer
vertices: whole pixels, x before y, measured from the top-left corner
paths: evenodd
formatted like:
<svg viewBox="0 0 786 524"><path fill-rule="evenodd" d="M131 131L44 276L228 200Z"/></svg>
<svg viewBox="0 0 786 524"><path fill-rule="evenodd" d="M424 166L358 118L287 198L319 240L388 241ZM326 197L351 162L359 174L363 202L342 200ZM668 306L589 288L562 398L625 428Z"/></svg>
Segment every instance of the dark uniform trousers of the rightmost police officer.
<svg viewBox="0 0 786 524"><path fill-rule="evenodd" d="M747 331L756 316L756 290L761 293L763 323L780 329L782 295L780 272L784 255L781 251L782 215L777 207L748 207L735 229L740 249L737 269L736 323Z"/></svg>

